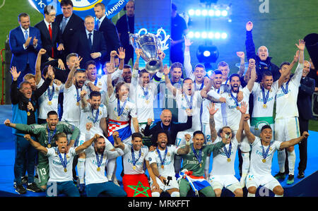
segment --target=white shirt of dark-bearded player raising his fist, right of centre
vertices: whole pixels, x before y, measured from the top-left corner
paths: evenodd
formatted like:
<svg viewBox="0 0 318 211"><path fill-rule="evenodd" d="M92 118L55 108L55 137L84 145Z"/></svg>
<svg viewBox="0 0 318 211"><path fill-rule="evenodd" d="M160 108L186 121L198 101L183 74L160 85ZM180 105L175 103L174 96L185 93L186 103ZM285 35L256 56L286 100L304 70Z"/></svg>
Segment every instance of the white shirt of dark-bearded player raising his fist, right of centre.
<svg viewBox="0 0 318 211"><path fill-rule="evenodd" d="M249 90L247 87L242 89L243 92L243 100L241 102L246 102L247 103L247 111L246 114L249 113ZM232 95L234 97L237 97L237 93L232 92ZM226 98L226 103L225 103L225 108L222 107L222 109L225 109L225 119L226 119L226 126L229 126L233 131L237 131L239 126L240 126L240 119L241 119L241 112L238 110L237 104L235 103L235 100L230 95L230 92L224 92L221 97ZM241 107L241 102L238 102L238 106ZM224 116L223 116L224 117Z"/></svg>

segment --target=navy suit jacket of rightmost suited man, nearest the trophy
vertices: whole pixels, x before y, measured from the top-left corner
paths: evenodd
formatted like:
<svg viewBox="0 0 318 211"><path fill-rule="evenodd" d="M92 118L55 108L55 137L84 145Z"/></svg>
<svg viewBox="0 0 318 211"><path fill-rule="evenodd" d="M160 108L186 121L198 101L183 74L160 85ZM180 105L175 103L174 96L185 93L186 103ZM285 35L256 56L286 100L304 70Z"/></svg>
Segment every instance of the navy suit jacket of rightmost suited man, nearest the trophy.
<svg viewBox="0 0 318 211"><path fill-rule="evenodd" d="M116 26L107 17L105 17L104 20L102 20L102 23L100 23L98 32L103 32L105 37L107 54L105 55L105 58L102 58L102 64L105 64L106 61L110 61L110 52L113 50L117 51L117 49L119 49L119 36Z"/></svg>

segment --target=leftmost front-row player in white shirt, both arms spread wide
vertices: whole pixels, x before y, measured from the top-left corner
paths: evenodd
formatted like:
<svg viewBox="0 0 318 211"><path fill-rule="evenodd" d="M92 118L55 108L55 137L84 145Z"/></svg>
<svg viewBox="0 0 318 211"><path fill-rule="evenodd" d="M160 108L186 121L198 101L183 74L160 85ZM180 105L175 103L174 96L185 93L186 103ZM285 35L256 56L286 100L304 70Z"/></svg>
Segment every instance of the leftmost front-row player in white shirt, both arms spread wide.
<svg viewBox="0 0 318 211"><path fill-rule="evenodd" d="M54 135L57 147L47 148L32 140L29 134L24 136L30 144L49 159L49 181L47 182L47 196L57 196L64 193L67 196L79 197L78 189L73 183L73 157L92 145L95 136L78 147L71 147L67 152L67 138L65 133ZM54 188L55 187L55 188Z"/></svg>

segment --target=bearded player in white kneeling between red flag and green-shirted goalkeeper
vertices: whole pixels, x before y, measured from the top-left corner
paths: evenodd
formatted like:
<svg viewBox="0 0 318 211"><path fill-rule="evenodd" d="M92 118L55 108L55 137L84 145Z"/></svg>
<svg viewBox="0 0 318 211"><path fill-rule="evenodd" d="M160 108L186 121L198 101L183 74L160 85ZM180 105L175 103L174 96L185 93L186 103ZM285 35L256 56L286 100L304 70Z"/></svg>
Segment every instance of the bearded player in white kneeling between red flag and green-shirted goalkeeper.
<svg viewBox="0 0 318 211"><path fill-rule="evenodd" d="M175 178L175 155L187 155L190 150L191 135L184 135L186 140L185 147L167 145L167 133L159 131L155 134L154 140L158 146L152 152L149 152L149 164L155 177L151 176L151 186L154 187L151 192L153 197L159 197L160 193L167 191L171 197L179 197L179 185Z"/></svg>

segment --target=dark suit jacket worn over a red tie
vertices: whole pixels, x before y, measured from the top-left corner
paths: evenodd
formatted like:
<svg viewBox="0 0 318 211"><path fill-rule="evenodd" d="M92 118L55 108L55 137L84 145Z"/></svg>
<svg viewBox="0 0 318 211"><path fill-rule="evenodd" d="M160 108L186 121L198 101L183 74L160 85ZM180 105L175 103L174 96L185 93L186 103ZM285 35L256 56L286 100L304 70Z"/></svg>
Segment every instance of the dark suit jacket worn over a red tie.
<svg viewBox="0 0 318 211"><path fill-rule="evenodd" d="M47 61L47 59L49 59L49 57L52 57L52 47L54 50L54 56L52 58L59 59L59 52L57 51L57 44L59 43L59 26L57 25L57 23L53 22L51 25L52 40L49 36L49 29L47 28L47 25L45 24L44 20L37 23L34 27L40 30L42 48L47 50L47 52L44 55L42 55L41 64L44 64Z"/></svg>

